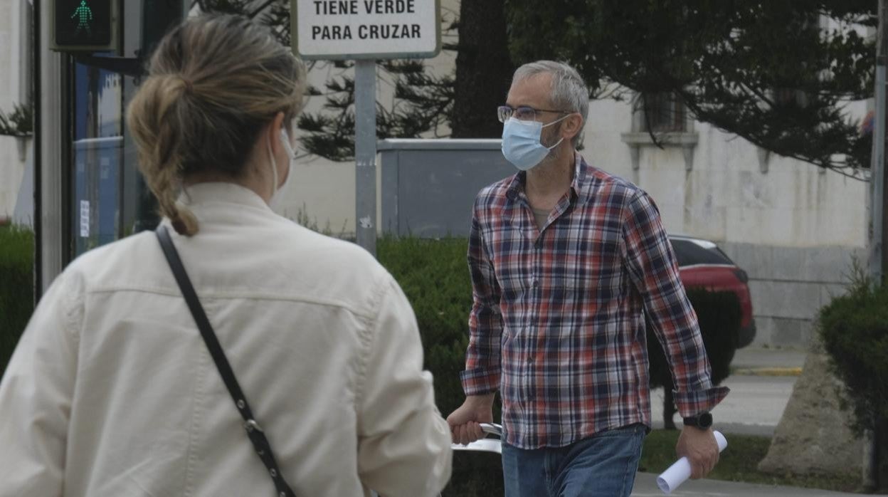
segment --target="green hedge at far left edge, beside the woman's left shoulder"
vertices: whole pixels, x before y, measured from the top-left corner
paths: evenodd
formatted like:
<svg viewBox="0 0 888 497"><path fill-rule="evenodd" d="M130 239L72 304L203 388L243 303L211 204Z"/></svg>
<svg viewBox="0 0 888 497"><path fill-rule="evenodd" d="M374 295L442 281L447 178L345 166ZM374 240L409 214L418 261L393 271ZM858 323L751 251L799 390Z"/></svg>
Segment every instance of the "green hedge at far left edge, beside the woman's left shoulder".
<svg viewBox="0 0 888 497"><path fill-rule="evenodd" d="M34 232L0 227L0 375L34 312Z"/></svg>

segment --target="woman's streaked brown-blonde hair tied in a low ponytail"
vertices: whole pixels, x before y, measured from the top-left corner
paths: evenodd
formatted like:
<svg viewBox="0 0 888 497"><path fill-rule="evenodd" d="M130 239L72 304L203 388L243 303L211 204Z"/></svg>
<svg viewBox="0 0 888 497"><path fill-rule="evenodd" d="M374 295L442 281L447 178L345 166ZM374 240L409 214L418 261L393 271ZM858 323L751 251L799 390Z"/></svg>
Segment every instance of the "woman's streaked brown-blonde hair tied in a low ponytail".
<svg viewBox="0 0 888 497"><path fill-rule="evenodd" d="M179 234L197 219L176 202L194 172L241 174L258 132L302 108L305 68L267 28L242 17L186 20L163 37L127 109L139 171Z"/></svg>

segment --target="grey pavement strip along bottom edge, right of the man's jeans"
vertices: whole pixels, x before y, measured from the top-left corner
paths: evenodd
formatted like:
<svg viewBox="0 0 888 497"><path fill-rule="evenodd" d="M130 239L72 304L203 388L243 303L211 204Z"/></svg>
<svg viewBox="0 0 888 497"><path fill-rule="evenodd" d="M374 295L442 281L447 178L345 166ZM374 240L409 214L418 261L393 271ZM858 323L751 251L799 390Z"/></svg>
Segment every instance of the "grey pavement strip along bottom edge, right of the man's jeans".
<svg viewBox="0 0 888 497"><path fill-rule="evenodd" d="M662 497L657 488L657 476L653 473L638 473L635 477L634 497ZM829 492L813 488L797 488L794 486L756 485L749 483L726 482L721 480L688 480L670 495L710 495L732 497L839 497L856 496L860 493Z"/></svg>

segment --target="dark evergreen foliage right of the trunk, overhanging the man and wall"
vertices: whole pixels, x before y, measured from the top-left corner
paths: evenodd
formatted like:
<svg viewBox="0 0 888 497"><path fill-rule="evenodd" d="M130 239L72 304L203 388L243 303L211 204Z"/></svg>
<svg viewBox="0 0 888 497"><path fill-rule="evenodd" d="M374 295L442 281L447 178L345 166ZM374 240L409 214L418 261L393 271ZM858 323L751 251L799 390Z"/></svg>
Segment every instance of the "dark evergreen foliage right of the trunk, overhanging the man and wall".
<svg viewBox="0 0 888 497"><path fill-rule="evenodd" d="M846 174L871 135L844 112L873 93L876 2L505 0L514 60L567 60L593 91L674 94L698 120ZM645 108L648 102L639 99ZM843 160L844 157L844 160Z"/></svg>

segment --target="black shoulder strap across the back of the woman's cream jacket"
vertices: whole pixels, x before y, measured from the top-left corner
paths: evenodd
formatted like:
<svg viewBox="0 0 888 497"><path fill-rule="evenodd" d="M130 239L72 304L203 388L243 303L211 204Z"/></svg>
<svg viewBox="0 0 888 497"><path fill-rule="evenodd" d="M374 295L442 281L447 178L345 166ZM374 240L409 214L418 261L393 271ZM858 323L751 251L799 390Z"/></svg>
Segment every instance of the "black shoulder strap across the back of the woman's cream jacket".
<svg viewBox="0 0 888 497"><path fill-rule="evenodd" d="M219 374L222 375L222 381L225 381L228 392L231 393L231 397L234 399L234 405L243 417L243 428L247 430L247 437L250 437L250 442L253 443L259 459L266 465L268 474L272 477L272 481L274 481L274 487L277 488L278 495L280 497L296 497L293 491L290 490L283 475L281 475L277 461L274 461L272 447L268 443L266 434L259 427L256 419L253 418L253 412L250 410L250 405L247 404L247 397L244 397L241 386L234 377L234 371L232 371L231 365L228 364L225 351L219 345L216 333L213 332L213 327L210 325L210 320L207 319L206 313L203 312L201 302L197 299L197 293L194 293L194 286L191 285L191 280L188 279L185 267L182 266L182 261L178 258L178 252L176 252L176 247L172 244L170 232L167 231L165 226L161 225L157 227L155 234L161 243L161 248L163 248L163 255L166 256L167 262L170 263L170 269L172 269L173 276L176 277L176 283L178 283L178 287L185 297L188 309L191 310L194 323L197 324L197 328L201 331L203 341L206 342L207 349L210 349L210 356L213 357Z"/></svg>

